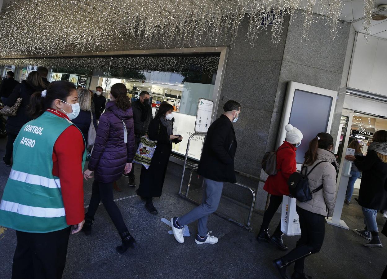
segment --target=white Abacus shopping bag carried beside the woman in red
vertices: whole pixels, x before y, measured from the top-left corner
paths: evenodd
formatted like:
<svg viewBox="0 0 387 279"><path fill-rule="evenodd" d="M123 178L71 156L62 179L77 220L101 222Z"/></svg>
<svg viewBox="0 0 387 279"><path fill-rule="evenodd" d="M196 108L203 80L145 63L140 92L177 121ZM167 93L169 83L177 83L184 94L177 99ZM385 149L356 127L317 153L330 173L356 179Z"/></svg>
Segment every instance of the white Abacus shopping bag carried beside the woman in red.
<svg viewBox="0 0 387 279"><path fill-rule="evenodd" d="M281 212L281 231L286 235L301 234L300 223L296 211L296 199L283 196Z"/></svg>

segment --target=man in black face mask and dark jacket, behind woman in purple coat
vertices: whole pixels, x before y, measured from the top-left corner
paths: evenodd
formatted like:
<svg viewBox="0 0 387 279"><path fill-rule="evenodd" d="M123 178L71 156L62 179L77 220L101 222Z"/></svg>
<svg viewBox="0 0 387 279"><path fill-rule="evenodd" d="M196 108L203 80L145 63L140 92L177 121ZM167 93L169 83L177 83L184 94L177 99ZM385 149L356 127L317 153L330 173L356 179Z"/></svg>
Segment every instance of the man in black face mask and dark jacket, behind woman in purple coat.
<svg viewBox="0 0 387 279"><path fill-rule="evenodd" d="M144 136L148 130L149 123L152 120L152 108L149 104L149 93L147 91L140 92L140 98L137 99L132 105L133 108L133 119L134 119L134 136L135 136L135 152L140 145L141 137ZM136 181L134 176L134 167L127 174L130 187L136 187ZM126 175L124 175L126 176Z"/></svg>

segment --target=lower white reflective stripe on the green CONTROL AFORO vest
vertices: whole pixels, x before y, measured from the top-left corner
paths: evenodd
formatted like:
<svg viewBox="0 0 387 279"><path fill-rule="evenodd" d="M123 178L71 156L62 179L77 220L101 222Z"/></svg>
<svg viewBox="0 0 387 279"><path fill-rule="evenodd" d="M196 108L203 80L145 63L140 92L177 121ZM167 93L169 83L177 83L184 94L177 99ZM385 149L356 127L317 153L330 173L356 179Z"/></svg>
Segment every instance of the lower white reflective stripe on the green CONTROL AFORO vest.
<svg viewBox="0 0 387 279"><path fill-rule="evenodd" d="M9 202L2 200L0 203L0 209L4 211L15 212L22 215L33 216L33 217L62 217L65 216L65 208L44 208L34 207L29 205L17 204L16 202Z"/></svg>

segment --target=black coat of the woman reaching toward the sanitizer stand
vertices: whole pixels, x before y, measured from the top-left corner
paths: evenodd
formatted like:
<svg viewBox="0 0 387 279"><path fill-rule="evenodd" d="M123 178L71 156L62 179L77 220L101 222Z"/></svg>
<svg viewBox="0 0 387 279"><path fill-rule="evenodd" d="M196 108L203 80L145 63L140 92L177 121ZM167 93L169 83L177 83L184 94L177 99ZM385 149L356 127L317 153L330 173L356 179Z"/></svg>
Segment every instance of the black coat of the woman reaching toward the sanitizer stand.
<svg viewBox="0 0 387 279"><path fill-rule="evenodd" d="M359 204L369 209L387 209L387 164L380 161L375 151L356 156L354 164L363 172Z"/></svg>

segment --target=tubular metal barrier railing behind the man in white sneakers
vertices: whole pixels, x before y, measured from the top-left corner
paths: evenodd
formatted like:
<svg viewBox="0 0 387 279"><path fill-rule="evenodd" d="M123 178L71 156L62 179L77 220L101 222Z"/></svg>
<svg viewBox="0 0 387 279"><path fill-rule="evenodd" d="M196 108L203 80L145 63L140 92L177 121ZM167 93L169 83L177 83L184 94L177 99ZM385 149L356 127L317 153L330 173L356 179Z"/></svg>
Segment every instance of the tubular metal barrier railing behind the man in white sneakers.
<svg viewBox="0 0 387 279"><path fill-rule="evenodd" d="M188 192L189 192L190 186L191 186L192 174L194 173L195 170L197 170L198 164L188 164L187 165L188 149L190 148L190 142L191 142L192 137L197 136L197 135L204 135L204 134L192 134L188 138L187 151L185 152L185 157L184 157L182 180L180 182L180 189L179 189L179 193L178 194L179 194L180 197L183 197L184 199L190 200L191 202L199 205L200 204L199 202L197 202L197 201L195 201L193 199L188 198ZM182 194L183 180L184 180L185 169L187 169L187 168L191 168L191 171L190 171L190 176L189 176L189 180L188 180L187 190L186 190L185 194L183 195ZM265 182L264 180L261 180L261 179L258 179L258 180L261 181L261 182ZM256 199L255 189L251 188L251 187L248 187L246 185L243 185L241 183L233 183L233 185L239 186L241 188L245 188L245 189L249 190L251 192L251 194L252 194L252 202L251 202L251 205L250 205L250 210L248 212L248 217L247 217L246 224L241 224L240 222L235 221L234 219L232 219L232 218L230 218L230 217L228 217L228 216L226 216L224 214L221 214L220 212L215 212L215 214L217 214L218 216L220 216L220 217L222 217L224 219L227 219L228 221L230 221L232 223L237 224L238 226L241 226L242 228L247 229L248 231L252 231L253 228L250 226L250 223L251 223L251 218L252 218L252 215L253 215L255 199Z"/></svg>

